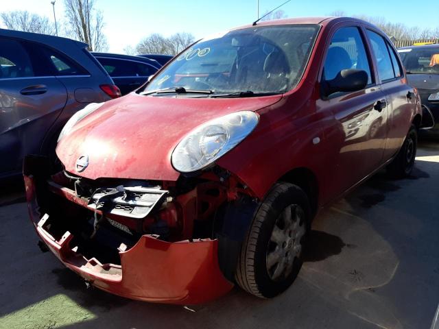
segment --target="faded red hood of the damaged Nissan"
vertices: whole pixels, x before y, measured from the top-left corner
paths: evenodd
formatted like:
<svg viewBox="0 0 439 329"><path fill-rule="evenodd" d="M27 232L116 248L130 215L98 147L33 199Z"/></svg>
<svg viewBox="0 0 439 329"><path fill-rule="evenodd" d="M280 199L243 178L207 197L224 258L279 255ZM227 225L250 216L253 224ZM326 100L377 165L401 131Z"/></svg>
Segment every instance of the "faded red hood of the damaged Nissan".
<svg viewBox="0 0 439 329"><path fill-rule="evenodd" d="M282 95L233 99L151 97L130 93L106 102L58 143L67 171L85 178L177 180L171 153L198 125L241 110L259 110ZM88 167L76 170L78 158Z"/></svg>

